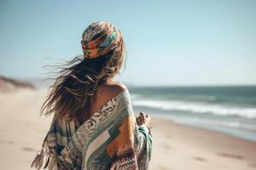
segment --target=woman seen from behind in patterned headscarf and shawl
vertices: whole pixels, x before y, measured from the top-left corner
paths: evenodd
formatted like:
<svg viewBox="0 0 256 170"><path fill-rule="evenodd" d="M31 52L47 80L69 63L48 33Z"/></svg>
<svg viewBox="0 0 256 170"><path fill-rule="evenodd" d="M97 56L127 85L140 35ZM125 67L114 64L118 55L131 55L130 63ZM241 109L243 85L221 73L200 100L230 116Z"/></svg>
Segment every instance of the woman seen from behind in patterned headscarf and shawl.
<svg viewBox="0 0 256 170"><path fill-rule="evenodd" d="M129 90L113 81L125 55L121 32L98 21L85 29L81 44L83 58L61 67L42 105L41 114L54 116L32 167L148 169L150 116L135 117Z"/></svg>

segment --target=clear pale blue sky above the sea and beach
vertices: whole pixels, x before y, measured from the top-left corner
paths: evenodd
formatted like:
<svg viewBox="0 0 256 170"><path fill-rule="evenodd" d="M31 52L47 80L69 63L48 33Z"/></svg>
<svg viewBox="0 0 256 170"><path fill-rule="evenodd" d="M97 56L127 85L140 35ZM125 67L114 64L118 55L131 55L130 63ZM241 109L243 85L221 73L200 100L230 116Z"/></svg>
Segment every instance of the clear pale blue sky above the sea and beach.
<svg viewBox="0 0 256 170"><path fill-rule="evenodd" d="M71 3L72 2L72 3ZM0 74L42 77L82 54L81 34L109 20L138 85L256 84L256 1L0 1Z"/></svg>

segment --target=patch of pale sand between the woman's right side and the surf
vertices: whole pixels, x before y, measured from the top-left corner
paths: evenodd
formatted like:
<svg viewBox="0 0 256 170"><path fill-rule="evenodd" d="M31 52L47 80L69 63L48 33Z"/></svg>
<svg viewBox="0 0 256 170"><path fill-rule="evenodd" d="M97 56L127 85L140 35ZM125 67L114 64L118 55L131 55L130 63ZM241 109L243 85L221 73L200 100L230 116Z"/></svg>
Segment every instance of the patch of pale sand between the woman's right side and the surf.
<svg viewBox="0 0 256 170"><path fill-rule="evenodd" d="M256 142L152 116L150 169L256 169Z"/></svg>

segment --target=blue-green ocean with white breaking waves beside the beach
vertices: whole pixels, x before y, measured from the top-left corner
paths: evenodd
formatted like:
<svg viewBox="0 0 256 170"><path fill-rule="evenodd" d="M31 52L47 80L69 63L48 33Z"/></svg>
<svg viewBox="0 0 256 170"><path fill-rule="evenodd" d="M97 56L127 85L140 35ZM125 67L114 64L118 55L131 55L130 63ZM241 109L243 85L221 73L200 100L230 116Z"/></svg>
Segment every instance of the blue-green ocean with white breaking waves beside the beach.
<svg viewBox="0 0 256 170"><path fill-rule="evenodd" d="M256 141L256 86L129 88L133 110Z"/></svg>

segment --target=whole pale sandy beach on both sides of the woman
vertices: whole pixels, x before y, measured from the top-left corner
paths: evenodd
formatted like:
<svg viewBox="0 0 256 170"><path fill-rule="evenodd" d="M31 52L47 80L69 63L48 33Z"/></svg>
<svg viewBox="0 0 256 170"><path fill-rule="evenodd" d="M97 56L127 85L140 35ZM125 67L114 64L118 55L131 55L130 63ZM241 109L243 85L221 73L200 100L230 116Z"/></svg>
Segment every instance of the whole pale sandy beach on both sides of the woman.
<svg viewBox="0 0 256 170"><path fill-rule="evenodd" d="M30 169L49 128L39 116L47 90L19 89L0 94L1 169ZM256 143L199 127L152 117L150 169L256 169Z"/></svg>

